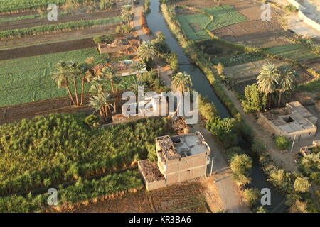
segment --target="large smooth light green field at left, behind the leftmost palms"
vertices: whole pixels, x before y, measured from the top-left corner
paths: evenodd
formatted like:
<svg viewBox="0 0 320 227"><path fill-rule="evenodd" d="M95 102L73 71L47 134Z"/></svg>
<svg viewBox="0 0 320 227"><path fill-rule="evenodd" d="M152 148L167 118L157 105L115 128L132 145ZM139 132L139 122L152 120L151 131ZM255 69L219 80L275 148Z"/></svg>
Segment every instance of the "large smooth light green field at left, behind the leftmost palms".
<svg viewBox="0 0 320 227"><path fill-rule="evenodd" d="M104 55L99 55L96 48L1 61L0 106L68 96L65 89L58 88L50 74L55 71L55 64L60 60L83 62L87 57L95 57L95 62L107 61ZM89 84L86 84L85 91L88 89Z"/></svg>

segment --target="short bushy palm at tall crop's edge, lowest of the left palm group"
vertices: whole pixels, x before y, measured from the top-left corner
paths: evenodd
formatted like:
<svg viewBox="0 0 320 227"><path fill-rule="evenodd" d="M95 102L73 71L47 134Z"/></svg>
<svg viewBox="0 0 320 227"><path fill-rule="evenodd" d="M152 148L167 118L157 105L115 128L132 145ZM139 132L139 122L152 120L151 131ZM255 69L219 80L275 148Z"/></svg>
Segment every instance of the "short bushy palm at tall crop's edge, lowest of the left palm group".
<svg viewBox="0 0 320 227"><path fill-rule="evenodd" d="M111 113L110 106L112 106L112 104L110 104L110 101L110 94L103 92L101 94L91 96L89 99L89 105L92 109L95 109L95 111L99 111L100 116L106 120L109 113Z"/></svg>

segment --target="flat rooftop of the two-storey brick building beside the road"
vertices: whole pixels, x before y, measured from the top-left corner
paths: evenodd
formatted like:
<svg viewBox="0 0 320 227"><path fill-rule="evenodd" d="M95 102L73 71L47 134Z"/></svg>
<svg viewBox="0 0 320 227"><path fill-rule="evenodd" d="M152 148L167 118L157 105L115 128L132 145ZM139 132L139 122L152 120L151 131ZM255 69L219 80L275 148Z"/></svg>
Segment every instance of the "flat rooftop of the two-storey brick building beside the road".
<svg viewBox="0 0 320 227"><path fill-rule="evenodd" d="M210 148L200 132L183 135L169 135L156 138L161 148L161 158L166 160L179 159L191 155L210 152Z"/></svg>

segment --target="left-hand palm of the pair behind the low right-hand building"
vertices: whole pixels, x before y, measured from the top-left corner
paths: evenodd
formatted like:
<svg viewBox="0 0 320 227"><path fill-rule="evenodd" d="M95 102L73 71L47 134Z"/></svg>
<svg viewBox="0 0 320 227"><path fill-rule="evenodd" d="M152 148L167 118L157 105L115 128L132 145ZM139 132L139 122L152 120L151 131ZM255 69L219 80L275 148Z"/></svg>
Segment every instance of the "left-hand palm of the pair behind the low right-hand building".
<svg viewBox="0 0 320 227"><path fill-rule="evenodd" d="M257 77L257 84L260 92L265 93L266 108L270 94L275 92L275 90L277 89L277 84L279 84L279 70L277 69L277 67L275 67L275 65L270 62L263 65L260 74Z"/></svg>

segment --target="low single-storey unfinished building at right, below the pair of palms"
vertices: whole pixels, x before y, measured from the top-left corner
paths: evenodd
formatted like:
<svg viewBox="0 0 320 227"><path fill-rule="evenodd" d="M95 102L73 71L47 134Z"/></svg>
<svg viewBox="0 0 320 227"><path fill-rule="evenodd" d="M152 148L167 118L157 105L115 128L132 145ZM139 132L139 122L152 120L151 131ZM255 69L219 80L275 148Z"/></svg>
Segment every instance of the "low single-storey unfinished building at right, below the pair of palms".
<svg viewBox="0 0 320 227"><path fill-rule="evenodd" d="M286 107L260 113L258 122L269 126L274 135L284 135L289 140L311 138L316 135L316 122L299 101L287 103Z"/></svg>

